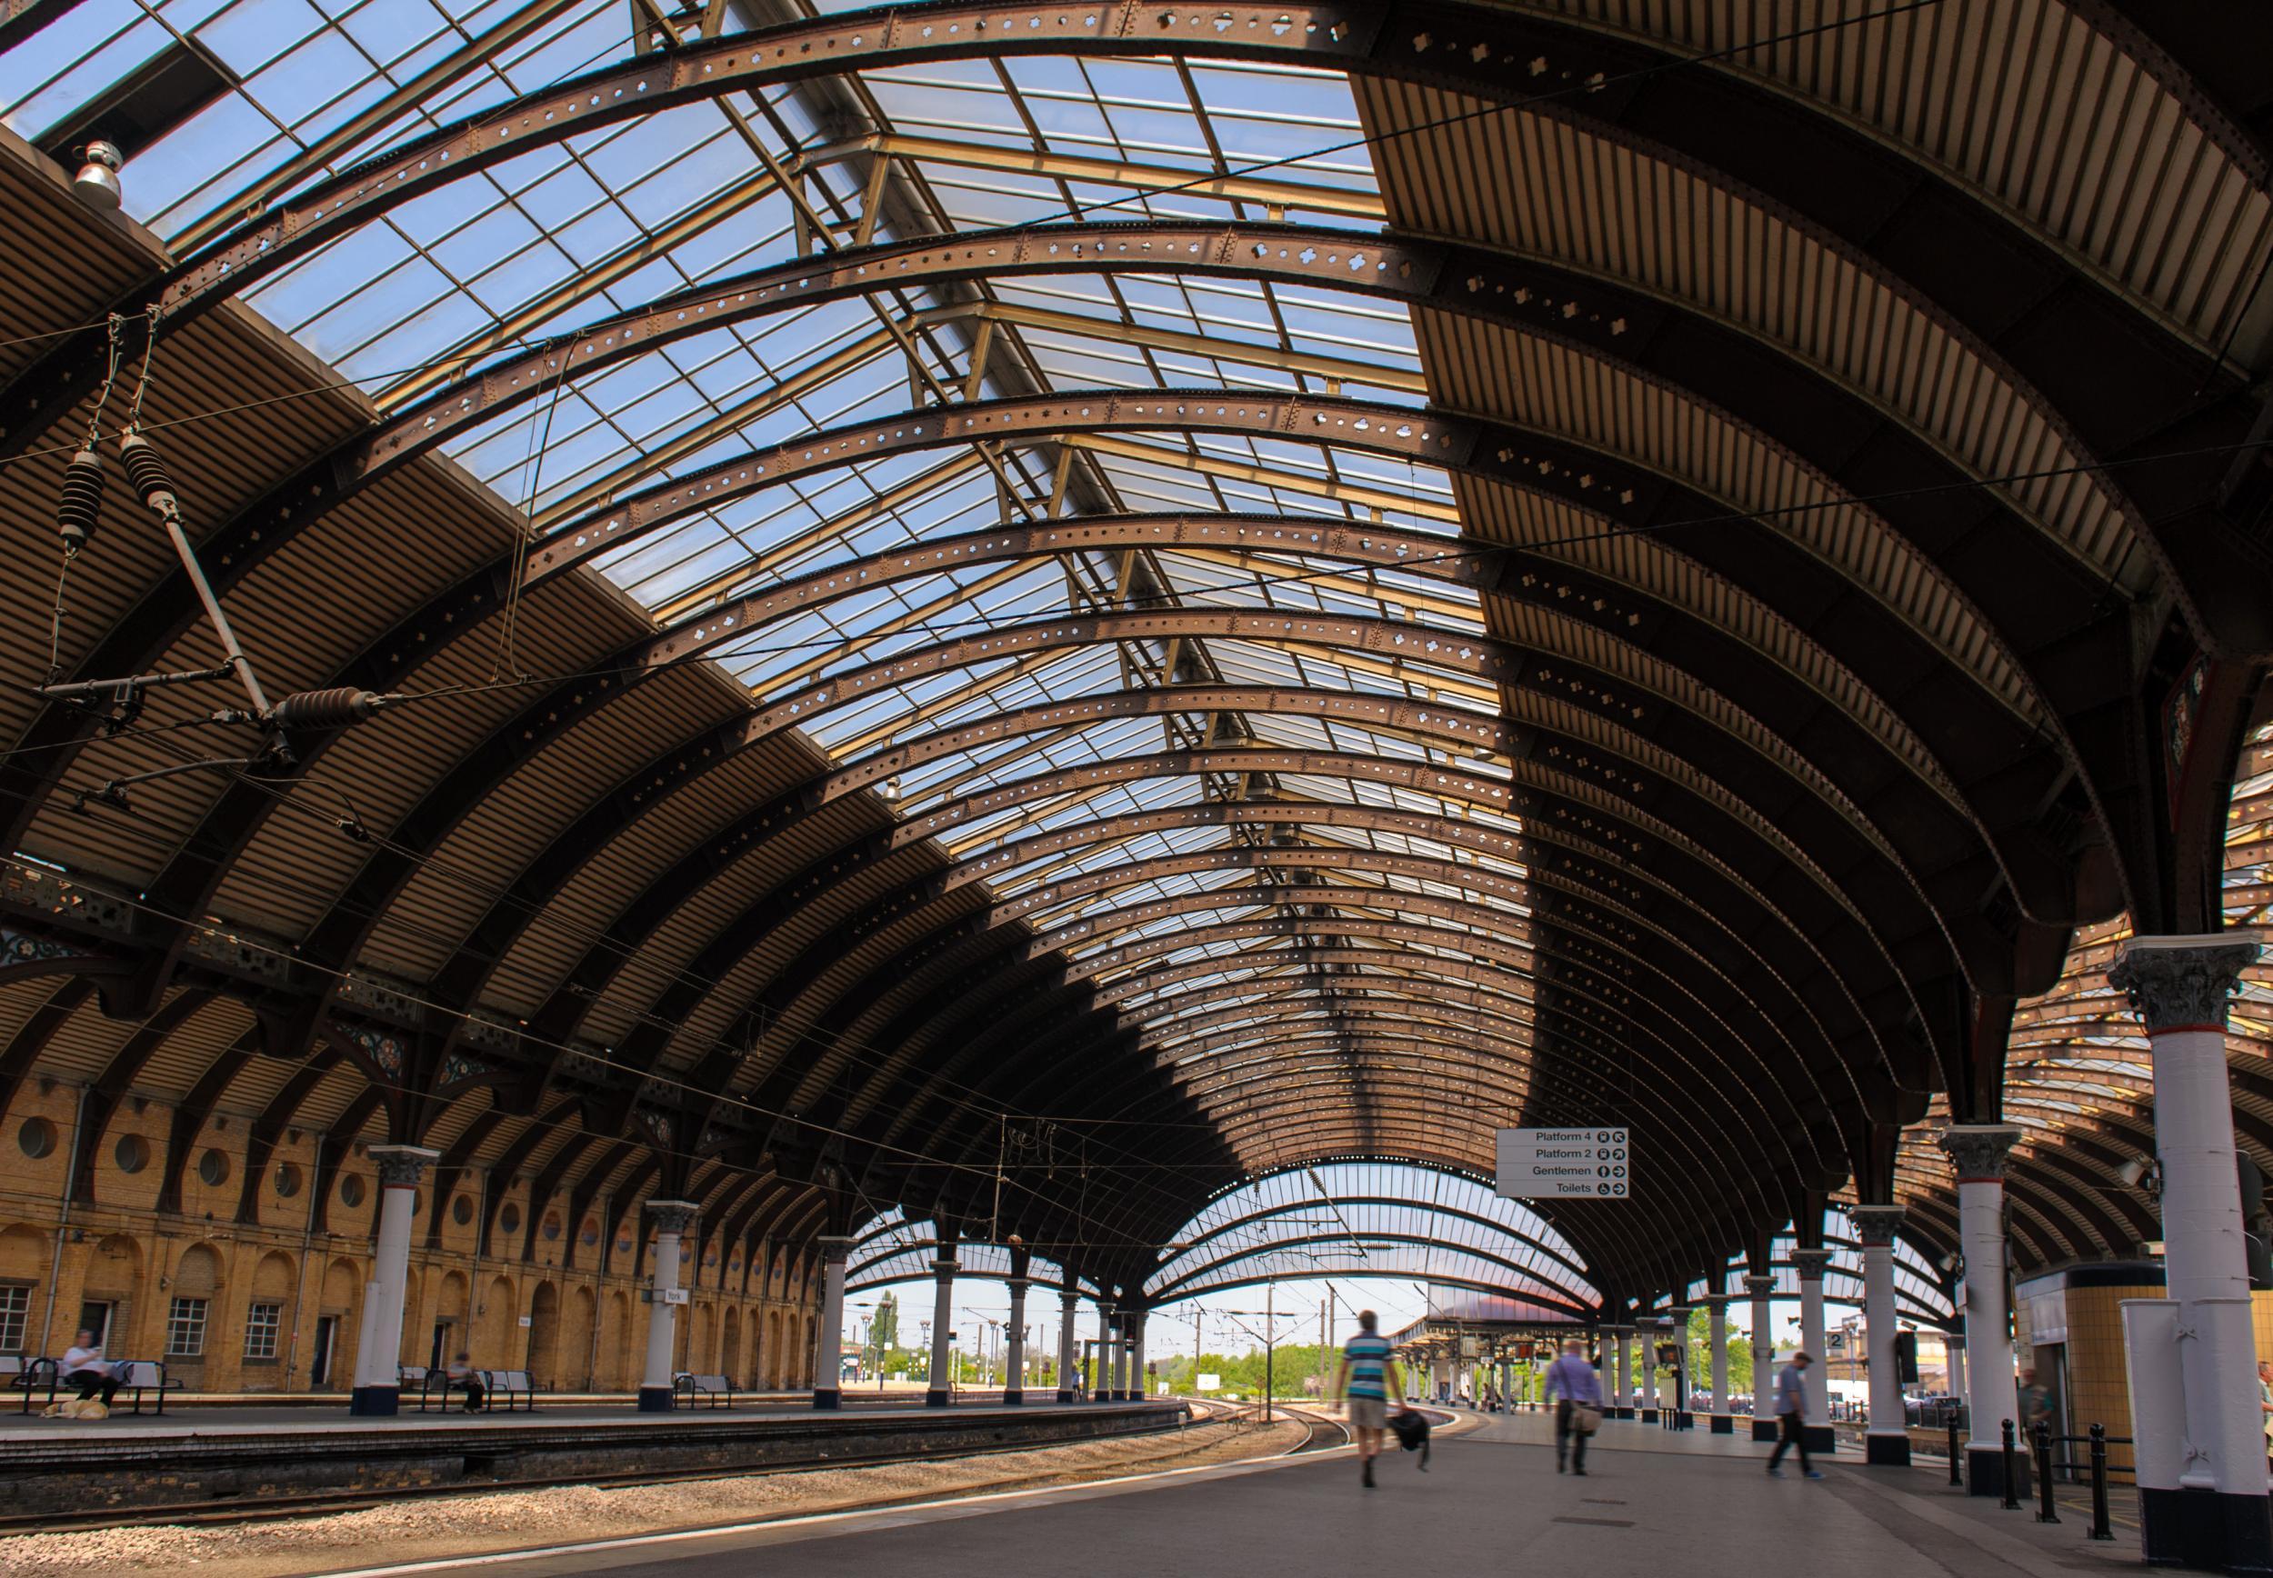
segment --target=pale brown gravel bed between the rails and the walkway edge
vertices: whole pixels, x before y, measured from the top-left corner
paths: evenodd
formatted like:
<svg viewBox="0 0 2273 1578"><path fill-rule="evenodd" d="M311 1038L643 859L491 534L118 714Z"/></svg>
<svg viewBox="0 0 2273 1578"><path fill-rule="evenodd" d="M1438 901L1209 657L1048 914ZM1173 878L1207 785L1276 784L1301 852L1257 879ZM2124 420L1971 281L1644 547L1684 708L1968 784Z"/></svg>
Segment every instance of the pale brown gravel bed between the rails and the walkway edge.
<svg viewBox="0 0 2273 1578"><path fill-rule="evenodd" d="M841 1512L907 1496L948 1496L1007 1480L1080 1483L1150 1467L1189 1467L1282 1453L1300 1426L1191 1426L1175 1437L1039 1446L977 1457L930 1457L868 1469L807 1469L673 1485L555 1485L548 1489L418 1498L396 1505L198 1528L93 1528L0 1539L0 1573L159 1573L198 1567L214 1578L284 1578L373 1562L418 1562L575 1539L609 1539L705 1523Z"/></svg>

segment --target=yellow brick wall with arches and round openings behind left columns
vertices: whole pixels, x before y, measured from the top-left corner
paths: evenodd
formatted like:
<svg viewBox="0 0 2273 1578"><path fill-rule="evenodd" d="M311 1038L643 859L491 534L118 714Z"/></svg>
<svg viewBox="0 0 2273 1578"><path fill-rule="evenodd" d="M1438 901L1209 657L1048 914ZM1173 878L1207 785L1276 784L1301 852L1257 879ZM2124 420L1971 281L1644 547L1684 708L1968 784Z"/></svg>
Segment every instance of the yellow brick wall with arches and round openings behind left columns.
<svg viewBox="0 0 2273 1578"><path fill-rule="evenodd" d="M120 1360L164 1357L168 1373L202 1392L305 1392L320 1317L339 1321L325 1392L345 1392L355 1376L355 1339L364 1285L370 1280L370 1232L377 1176L364 1146L355 1146L330 1180L325 1230L314 1228L316 1135L280 1137L259 1189L257 1223L239 1223L236 1205L248 1164L250 1126L218 1114L189 1141L182 1169L182 1210L159 1212L173 1110L157 1101L123 1101L102 1126L93 1155L93 1205L68 1212L66 1169L80 1087L25 1080L0 1116L0 1289L25 1292L23 1353L57 1355L70 1339L86 1301L114 1305L109 1353ZM27 1121L52 1130L52 1146L34 1157L23 1146ZM123 1166L125 1141L139 1141L139 1169ZM132 1151L132 1146L127 1146ZM220 1182L200 1178L207 1151L220 1155ZM289 1169L289 1171L286 1171ZM286 1194L280 1180L291 1187ZM350 1180L355 1180L350 1185ZM439 1244L427 1244L432 1182L421 1189L411 1235L411 1273L402 1317L400 1360L423 1364L434 1323L448 1319L448 1348L466 1348L484 1369L530 1369L546 1389L630 1389L646 1362L650 1305L630 1235L636 1210L618 1226L618 1241L586 1244L582 1223L568 1221L568 1196L530 1198L527 1178L461 1173L441 1207ZM500 1191L496 1253L475 1260L484 1189ZM348 1194L357 1194L355 1205ZM468 1221L457 1221L464 1196ZM536 1214L536 1235L527 1221ZM518 1221L507 1230L507 1214ZM600 1203L586 1210L605 1223ZM550 1232L548 1232L550 1221ZM598 1237L598 1235L593 1235ZM534 1260L521 1260L523 1241ZM689 1255L693 1255L689 1244ZM602 1251L607 1251L602 1255ZM502 1255L502 1257L500 1257ZM739 1385L811 1385L818 1276L800 1266L773 1278L743 1264L748 1251L702 1246L702 1264L682 1262L680 1280L691 1303L680 1312L680 1367L723 1371ZM207 1298L205 1351L166 1353L173 1298ZM245 1321L255 1303L282 1307L275 1357L248 1357ZM521 1326L530 1317L530 1326Z"/></svg>

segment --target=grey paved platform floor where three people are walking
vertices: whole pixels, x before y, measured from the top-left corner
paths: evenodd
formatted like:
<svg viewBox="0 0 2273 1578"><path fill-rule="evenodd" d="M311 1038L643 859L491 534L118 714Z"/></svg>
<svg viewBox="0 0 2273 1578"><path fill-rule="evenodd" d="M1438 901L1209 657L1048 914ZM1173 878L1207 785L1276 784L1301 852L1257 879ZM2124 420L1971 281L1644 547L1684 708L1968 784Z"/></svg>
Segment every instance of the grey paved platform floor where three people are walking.
<svg viewBox="0 0 2273 1578"><path fill-rule="evenodd" d="M1455 1432L1462 1430L1462 1432ZM1384 1457L1380 1489L1348 1453L1189 1469L1064 1492L1011 1492L911 1510L668 1535L525 1560L486 1573L618 1578L1000 1578L1005 1560L1059 1553L1098 1578L1237 1573L1571 1571L1587 1578L2071 1578L2134 1567L2137 1537L2087 1544L2084 1523L2039 1526L1943 1487L1934 1469L1827 1462L1821 1483L1762 1471L1766 1446L1607 1423L1589 1476L1557 1476L1541 1417L1464 1419L1430 1473ZM1059 1560L1048 1558L1048 1560ZM471 1573L475 1564L359 1573Z"/></svg>

